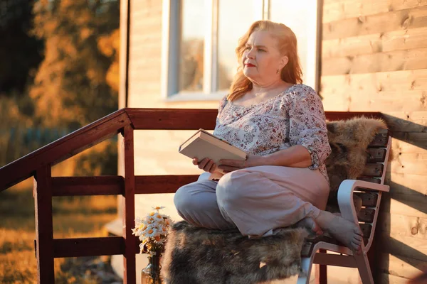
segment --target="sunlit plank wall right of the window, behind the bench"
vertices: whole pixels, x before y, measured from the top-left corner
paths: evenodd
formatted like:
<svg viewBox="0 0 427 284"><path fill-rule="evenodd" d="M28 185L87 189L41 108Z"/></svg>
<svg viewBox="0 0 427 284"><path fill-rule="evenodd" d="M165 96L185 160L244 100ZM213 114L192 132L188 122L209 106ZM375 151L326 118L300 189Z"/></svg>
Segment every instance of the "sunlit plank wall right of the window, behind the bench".
<svg viewBox="0 0 427 284"><path fill-rule="evenodd" d="M325 110L386 114L376 283L406 283L427 270L427 1L325 0L321 75Z"/></svg>

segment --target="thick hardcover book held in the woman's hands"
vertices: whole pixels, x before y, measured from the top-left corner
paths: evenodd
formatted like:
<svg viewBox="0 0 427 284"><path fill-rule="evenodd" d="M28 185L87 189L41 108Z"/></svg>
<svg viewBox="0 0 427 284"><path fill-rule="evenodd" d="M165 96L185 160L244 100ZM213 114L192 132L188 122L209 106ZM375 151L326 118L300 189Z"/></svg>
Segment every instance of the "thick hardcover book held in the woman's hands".
<svg viewBox="0 0 427 284"><path fill-rule="evenodd" d="M221 140L204 129L199 129L193 136L179 146L179 153L199 161L210 158L218 166L219 160L246 160L246 152ZM221 171L221 170L218 170Z"/></svg>

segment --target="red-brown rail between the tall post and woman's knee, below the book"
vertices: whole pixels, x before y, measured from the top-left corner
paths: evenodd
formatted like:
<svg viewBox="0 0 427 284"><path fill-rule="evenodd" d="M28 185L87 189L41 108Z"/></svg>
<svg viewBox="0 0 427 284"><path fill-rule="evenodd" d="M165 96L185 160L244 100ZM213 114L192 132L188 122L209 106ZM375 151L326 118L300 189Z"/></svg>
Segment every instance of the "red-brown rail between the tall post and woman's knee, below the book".
<svg viewBox="0 0 427 284"><path fill-rule="evenodd" d="M195 182L199 175L137 175L135 194L175 193L182 185Z"/></svg>

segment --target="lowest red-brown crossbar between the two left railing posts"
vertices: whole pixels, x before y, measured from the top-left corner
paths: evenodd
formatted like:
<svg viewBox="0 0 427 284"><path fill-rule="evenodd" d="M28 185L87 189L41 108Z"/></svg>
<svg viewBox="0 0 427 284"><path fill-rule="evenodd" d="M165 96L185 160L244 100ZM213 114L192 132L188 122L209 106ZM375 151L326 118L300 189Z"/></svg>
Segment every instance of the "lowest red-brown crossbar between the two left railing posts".
<svg viewBox="0 0 427 284"><path fill-rule="evenodd" d="M124 253L125 239L122 236L53 240L53 256L56 258L112 256Z"/></svg>

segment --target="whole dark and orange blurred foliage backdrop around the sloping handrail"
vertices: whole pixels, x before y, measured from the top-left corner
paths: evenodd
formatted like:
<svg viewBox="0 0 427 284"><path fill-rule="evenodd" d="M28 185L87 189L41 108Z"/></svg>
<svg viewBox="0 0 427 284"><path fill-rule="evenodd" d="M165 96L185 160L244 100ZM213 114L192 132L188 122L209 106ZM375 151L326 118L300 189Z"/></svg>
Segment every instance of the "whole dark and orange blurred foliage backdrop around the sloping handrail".
<svg viewBox="0 0 427 284"><path fill-rule="evenodd" d="M117 110L120 1L0 0L0 166ZM117 173L117 138L71 173Z"/></svg>

